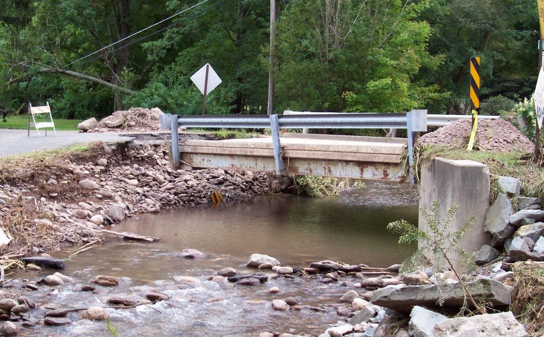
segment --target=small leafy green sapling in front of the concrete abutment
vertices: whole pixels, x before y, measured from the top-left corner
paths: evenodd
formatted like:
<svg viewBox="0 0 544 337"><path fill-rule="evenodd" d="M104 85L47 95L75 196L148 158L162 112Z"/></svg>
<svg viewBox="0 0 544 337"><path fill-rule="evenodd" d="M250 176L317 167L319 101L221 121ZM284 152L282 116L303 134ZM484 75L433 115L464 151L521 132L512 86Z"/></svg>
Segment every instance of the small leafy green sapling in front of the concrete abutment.
<svg viewBox="0 0 544 337"><path fill-rule="evenodd" d="M438 270L443 270L446 265L449 265L455 276L459 279L470 303L483 314L485 313L485 308L474 301L454 264L454 257L456 257L460 266L466 267L468 270L475 269L470 255L464 249L460 248L458 243L466 231L474 226L477 220L472 216L458 230L449 232L447 229L450 228L457 209L458 205L452 205L448 209L446 216L442 219L440 216L440 204L437 201L432 201L430 211L421 209L423 219L428 227L427 232L419 230L416 226L405 220L391 222L387 225L387 229L400 234L399 244L419 242L419 248L410 258L404 261L401 272L416 270L421 267L430 266L431 264L434 264Z"/></svg>

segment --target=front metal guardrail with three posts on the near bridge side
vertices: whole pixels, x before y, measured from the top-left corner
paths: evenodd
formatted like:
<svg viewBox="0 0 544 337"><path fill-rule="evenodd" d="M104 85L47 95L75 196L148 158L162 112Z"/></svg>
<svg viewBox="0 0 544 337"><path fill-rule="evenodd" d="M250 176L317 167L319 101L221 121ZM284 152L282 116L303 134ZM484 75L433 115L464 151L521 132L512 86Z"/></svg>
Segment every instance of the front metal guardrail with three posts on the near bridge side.
<svg viewBox="0 0 544 337"><path fill-rule="evenodd" d="M427 130L427 110L412 110L399 114L301 114L301 115L233 115L233 116L197 116L169 115L160 116L163 129L170 127L172 134L172 162L180 166L179 127L196 128L269 128L273 139L276 173L285 171L281 157L280 129L364 129L396 128L408 131L408 157L410 164L410 182L413 184L413 136L416 132Z"/></svg>

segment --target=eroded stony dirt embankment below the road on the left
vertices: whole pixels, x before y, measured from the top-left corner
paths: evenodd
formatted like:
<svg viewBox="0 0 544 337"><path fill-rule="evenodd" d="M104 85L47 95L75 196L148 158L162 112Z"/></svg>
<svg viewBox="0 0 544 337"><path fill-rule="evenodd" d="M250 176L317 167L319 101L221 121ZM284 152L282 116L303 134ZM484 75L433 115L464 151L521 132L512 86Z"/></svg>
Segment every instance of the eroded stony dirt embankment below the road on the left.
<svg viewBox="0 0 544 337"><path fill-rule="evenodd" d="M38 254L90 242L137 213L222 202L268 192L265 173L172 170L166 142L107 145L43 158L0 161L0 255Z"/></svg>

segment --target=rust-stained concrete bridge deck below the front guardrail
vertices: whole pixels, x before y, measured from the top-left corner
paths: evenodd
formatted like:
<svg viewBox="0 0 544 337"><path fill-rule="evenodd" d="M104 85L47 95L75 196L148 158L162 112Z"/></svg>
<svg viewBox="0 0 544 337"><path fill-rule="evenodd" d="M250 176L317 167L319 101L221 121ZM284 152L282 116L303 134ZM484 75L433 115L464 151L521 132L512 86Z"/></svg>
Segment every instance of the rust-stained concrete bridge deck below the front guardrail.
<svg viewBox="0 0 544 337"><path fill-rule="evenodd" d="M285 173L341 178L406 179L402 138L284 134L280 137ZM273 139L188 140L180 159L190 166L275 172Z"/></svg>

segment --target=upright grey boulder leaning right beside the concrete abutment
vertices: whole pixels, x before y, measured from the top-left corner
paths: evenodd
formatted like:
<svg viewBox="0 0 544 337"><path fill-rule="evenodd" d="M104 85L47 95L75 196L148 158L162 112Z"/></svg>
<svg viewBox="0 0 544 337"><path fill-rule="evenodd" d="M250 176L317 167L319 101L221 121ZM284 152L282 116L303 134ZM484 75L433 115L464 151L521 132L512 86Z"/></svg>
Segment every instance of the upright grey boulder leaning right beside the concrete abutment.
<svg viewBox="0 0 544 337"><path fill-rule="evenodd" d="M499 193L495 202L491 205L485 216L486 233L493 235L499 242L504 241L516 230L510 224L510 216L514 214L514 206L510 199Z"/></svg>

